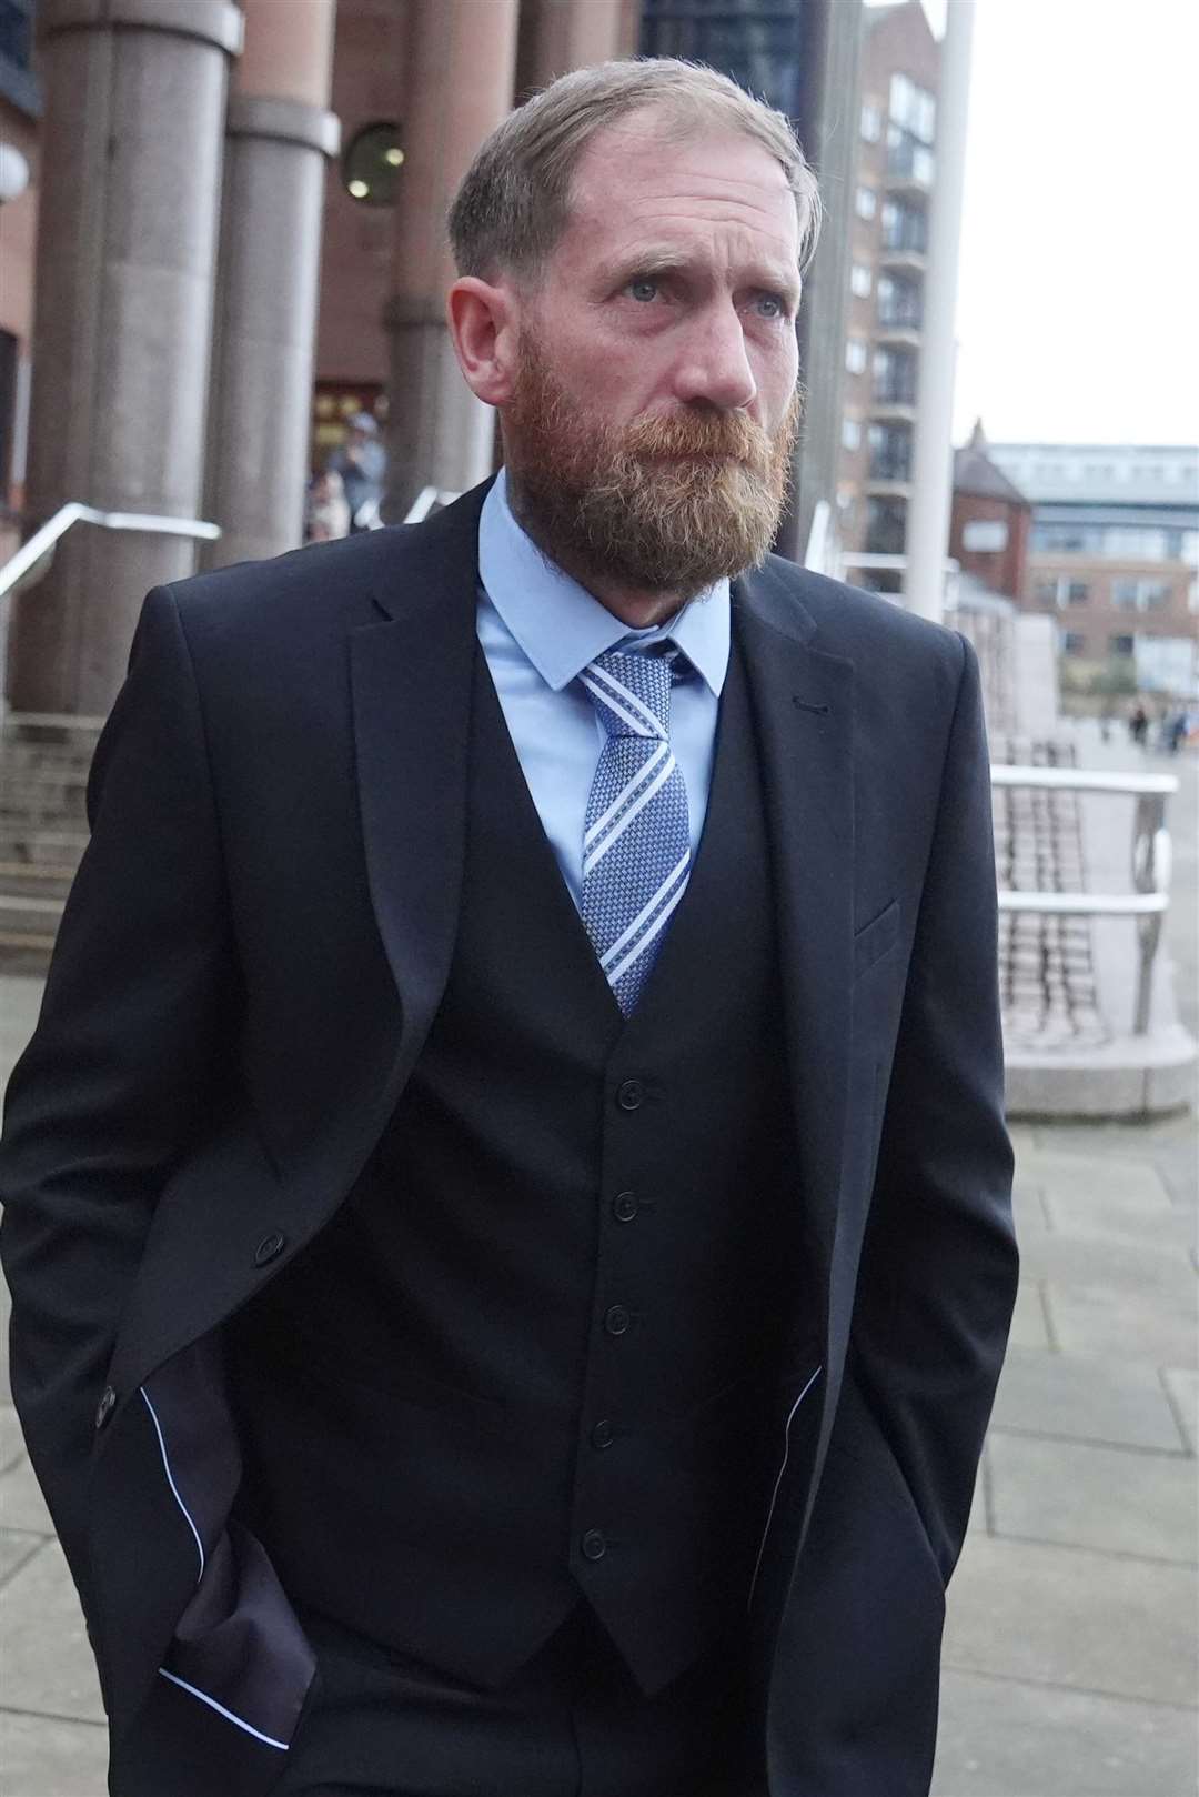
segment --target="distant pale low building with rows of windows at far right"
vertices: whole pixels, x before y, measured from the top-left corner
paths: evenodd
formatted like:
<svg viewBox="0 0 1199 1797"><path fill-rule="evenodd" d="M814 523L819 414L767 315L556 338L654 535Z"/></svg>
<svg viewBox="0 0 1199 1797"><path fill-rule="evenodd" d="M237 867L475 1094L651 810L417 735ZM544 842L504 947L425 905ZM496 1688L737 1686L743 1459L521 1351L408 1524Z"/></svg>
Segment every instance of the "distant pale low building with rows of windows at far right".
<svg viewBox="0 0 1199 1797"><path fill-rule="evenodd" d="M1034 507L1019 600L1057 620L1062 683L1176 688L1181 645L1199 642L1199 447L992 444L989 455Z"/></svg>

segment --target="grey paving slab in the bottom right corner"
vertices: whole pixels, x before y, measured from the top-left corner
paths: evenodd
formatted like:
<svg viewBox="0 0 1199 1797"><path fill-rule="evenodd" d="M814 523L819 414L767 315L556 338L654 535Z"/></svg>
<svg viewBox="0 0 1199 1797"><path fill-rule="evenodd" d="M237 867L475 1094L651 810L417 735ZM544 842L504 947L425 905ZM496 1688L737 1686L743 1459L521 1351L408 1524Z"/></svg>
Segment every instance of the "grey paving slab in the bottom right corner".
<svg viewBox="0 0 1199 1797"><path fill-rule="evenodd" d="M933 1797L1188 1797L1195 1714L946 1673Z"/></svg>

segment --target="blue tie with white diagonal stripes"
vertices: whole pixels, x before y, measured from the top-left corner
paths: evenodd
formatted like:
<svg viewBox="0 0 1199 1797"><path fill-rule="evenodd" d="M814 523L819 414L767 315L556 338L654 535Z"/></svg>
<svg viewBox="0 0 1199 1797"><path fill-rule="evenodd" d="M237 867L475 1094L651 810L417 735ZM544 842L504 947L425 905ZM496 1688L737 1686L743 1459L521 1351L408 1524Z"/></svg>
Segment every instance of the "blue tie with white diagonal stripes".
<svg viewBox="0 0 1199 1797"><path fill-rule="evenodd" d="M608 731L582 832L582 922L627 1017L687 890L687 787L671 753L674 656L597 656L581 674Z"/></svg>

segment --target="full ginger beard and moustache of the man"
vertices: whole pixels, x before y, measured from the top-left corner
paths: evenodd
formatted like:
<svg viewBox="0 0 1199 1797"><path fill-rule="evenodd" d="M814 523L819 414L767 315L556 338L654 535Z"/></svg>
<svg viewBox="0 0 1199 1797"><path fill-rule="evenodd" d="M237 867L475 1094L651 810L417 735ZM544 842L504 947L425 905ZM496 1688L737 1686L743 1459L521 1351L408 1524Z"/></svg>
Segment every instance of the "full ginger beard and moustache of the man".
<svg viewBox="0 0 1199 1797"><path fill-rule="evenodd" d="M694 406L617 426L572 399L521 331L503 413L512 500L568 573L694 598L769 552L791 483L800 394L771 435Z"/></svg>

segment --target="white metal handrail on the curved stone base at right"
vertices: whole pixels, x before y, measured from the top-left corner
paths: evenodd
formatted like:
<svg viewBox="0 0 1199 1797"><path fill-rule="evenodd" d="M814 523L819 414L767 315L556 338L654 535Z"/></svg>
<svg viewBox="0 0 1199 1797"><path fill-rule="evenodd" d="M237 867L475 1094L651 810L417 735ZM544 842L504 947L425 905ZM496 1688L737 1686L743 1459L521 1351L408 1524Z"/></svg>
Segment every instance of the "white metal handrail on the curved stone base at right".
<svg viewBox="0 0 1199 1797"><path fill-rule="evenodd" d="M1149 1031L1152 967L1161 940L1161 918L1170 907L1174 850L1165 827L1165 801L1177 792L1174 775L1118 775L1089 767L992 766L992 787L1032 787L1055 792L1115 792L1136 800L1132 818L1131 893L1025 893L999 888L1001 911L1034 911L1044 916L1132 916L1140 961L1132 1035Z"/></svg>

